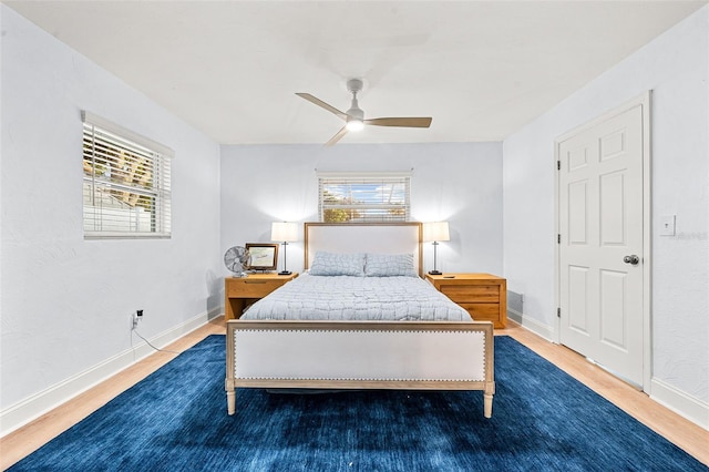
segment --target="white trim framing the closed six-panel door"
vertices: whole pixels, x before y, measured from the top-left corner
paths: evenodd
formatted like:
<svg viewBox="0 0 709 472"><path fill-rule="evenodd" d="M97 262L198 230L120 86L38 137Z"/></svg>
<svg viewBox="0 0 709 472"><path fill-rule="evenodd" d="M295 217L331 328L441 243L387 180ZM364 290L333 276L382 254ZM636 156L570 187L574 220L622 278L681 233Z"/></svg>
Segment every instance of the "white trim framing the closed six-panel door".
<svg viewBox="0 0 709 472"><path fill-rule="evenodd" d="M651 181L650 181L650 155L651 155L651 140L650 140L650 103L651 92L647 91L639 96L624 103L623 105L604 113L603 115L585 123L580 126L571 130L563 135L558 136L554 141L554 168L557 168L557 162L561 160L559 145L562 142L568 140L571 136L596 126L599 123L607 121L608 119L625 113L626 111L641 106L643 110L643 390L650 393L651 376L653 376L653 332L651 332L651 296L650 296L650 283L651 283ZM555 171L554 178L554 299L556 306L561 306L561 269L559 269L559 245L556 240L558 234L562 233L559 228L559 174ZM562 324L561 318L556 319L556 334L555 341L561 342Z"/></svg>

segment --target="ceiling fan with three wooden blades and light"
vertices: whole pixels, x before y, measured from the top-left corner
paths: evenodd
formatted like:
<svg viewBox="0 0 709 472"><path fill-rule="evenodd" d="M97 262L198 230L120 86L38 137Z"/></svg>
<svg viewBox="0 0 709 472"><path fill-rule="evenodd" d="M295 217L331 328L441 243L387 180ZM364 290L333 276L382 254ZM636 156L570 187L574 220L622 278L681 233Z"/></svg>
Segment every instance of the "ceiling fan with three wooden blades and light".
<svg viewBox="0 0 709 472"><path fill-rule="evenodd" d="M357 94L362 90L362 81L359 79L350 79L347 81L347 90L352 93L352 104L347 112L341 112L335 106L325 103L322 100L317 99L309 93L296 93L296 95L323 107L345 121L345 126L342 126L335 136L330 137L330 141L325 143L326 146L333 145L349 131L360 131L364 125L398 127L429 127L431 125L431 121L433 120L431 117L378 117L364 120L364 112L359 107L359 103L357 102Z"/></svg>

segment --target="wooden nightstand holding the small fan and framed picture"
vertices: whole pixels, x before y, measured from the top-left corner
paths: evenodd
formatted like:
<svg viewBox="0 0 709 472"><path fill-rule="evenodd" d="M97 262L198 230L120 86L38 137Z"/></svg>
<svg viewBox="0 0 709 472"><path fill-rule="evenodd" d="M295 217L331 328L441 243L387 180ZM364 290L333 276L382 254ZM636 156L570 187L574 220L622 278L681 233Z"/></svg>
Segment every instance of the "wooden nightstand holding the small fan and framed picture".
<svg viewBox="0 0 709 472"><path fill-rule="evenodd" d="M246 277L224 279L224 319L240 318L244 309L298 277L298 274L249 274Z"/></svg>

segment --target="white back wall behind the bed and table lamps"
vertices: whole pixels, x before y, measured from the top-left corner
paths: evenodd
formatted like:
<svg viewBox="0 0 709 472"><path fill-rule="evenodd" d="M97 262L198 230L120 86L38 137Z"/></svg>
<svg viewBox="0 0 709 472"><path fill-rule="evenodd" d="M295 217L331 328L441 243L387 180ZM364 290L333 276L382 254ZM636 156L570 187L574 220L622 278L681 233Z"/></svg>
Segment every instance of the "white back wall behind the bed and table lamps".
<svg viewBox="0 0 709 472"><path fill-rule="evenodd" d="M317 222L318 171L410 171L411 216L449 220L444 271L502 271L501 143L222 146L222 249L265 243L270 223ZM288 269L302 269L302 242L288 245ZM424 246L427 270L433 266Z"/></svg>

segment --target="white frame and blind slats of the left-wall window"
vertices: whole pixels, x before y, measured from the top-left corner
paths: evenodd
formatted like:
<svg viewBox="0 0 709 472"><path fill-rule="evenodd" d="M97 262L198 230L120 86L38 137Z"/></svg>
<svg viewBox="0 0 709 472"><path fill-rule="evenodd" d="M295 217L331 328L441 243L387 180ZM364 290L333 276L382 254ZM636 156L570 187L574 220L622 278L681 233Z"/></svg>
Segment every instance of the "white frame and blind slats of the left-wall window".
<svg viewBox="0 0 709 472"><path fill-rule="evenodd" d="M135 182L121 182L109 177L97 176L95 172L88 174L85 171L82 178L82 224L84 239L160 239L172 237L172 158L175 153L172 148L145 137L131 130L126 130L109 120L94 115L88 111L81 112L82 120L82 163L89 158L89 167L97 167L99 152L95 143L102 141L106 146L115 146L112 150L125 151L132 162L141 161L141 165L148 163L148 171L152 173L151 185L146 186ZM86 147L91 143L91 147ZM137 157L140 155L140 158ZM107 161L102 157L103 163ZM131 213L124 204L123 208L116 205L104 207L91 204L95 202L96 195L103 199L111 198L111 189L131 193L138 198L145 197L151 202L148 209L148 230L138 228ZM134 204L134 207L140 205ZM110 216L112 214L113 216ZM115 218L116 214L119 217ZM116 229L115 226L126 226L126 229ZM93 226L93 228L92 228ZM110 229L101 229L103 226ZM113 226L113 227L112 227ZM132 227L135 226L135 227Z"/></svg>

